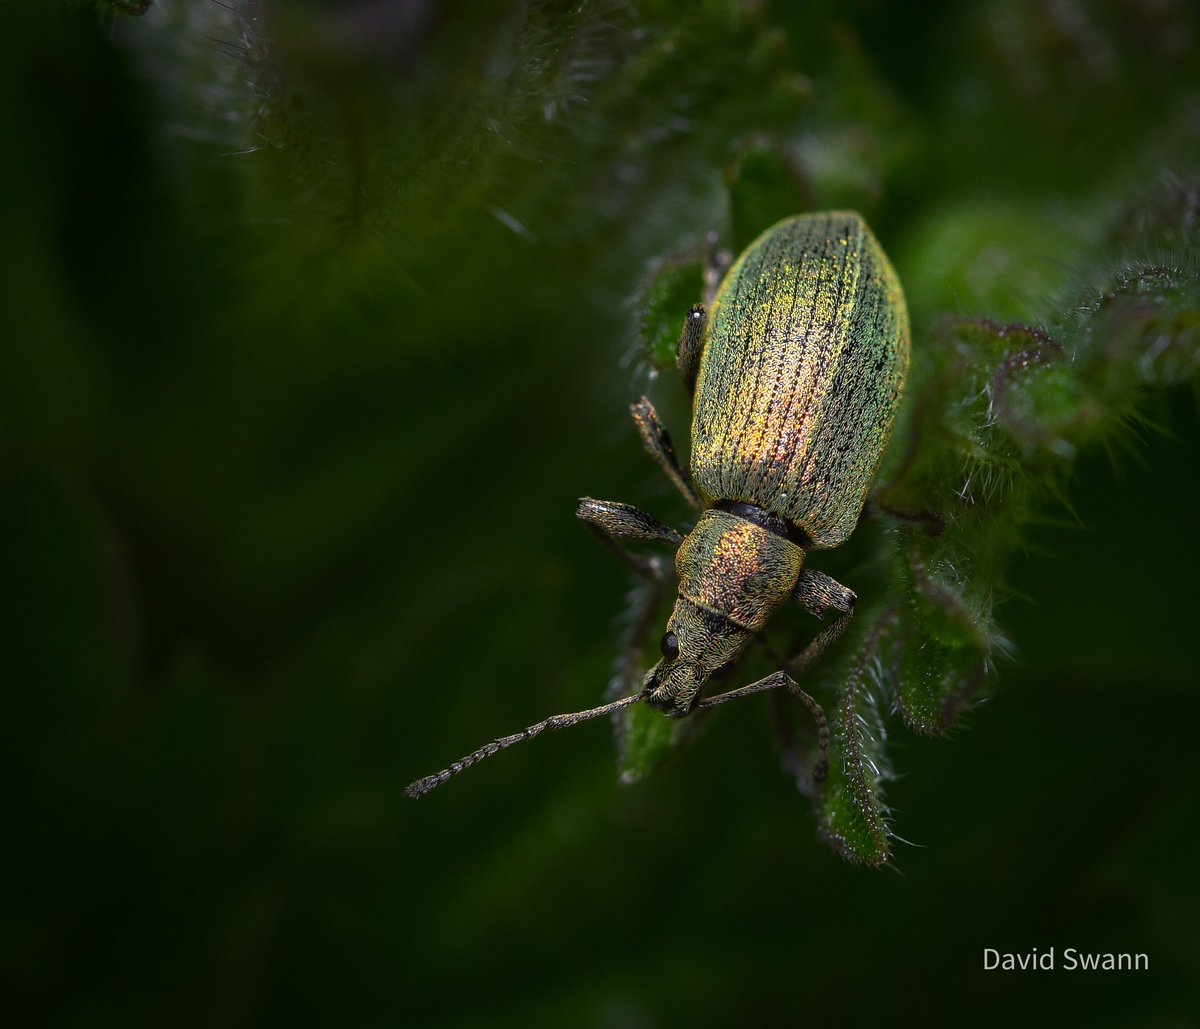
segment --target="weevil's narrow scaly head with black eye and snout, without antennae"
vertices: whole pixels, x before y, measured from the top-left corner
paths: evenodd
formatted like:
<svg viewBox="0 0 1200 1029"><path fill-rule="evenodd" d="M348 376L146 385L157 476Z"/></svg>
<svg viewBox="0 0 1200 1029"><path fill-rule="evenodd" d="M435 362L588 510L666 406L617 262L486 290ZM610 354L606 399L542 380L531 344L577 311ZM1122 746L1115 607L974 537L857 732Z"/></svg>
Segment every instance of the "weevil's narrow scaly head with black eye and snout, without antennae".
<svg viewBox="0 0 1200 1029"><path fill-rule="evenodd" d="M682 718L700 702L704 684L733 663L751 633L726 618L680 597L659 644L662 658L642 681L646 703Z"/></svg>

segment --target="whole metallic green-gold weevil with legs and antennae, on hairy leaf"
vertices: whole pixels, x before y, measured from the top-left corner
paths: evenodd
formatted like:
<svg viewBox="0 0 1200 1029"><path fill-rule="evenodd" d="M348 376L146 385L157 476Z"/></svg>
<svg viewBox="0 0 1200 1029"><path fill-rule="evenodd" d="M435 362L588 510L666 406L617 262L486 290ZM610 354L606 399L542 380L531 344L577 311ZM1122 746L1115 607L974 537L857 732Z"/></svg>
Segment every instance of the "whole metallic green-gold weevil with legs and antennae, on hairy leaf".
<svg viewBox="0 0 1200 1029"><path fill-rule="evenodd" d="M715 276L714 276L715 278ZM808 550L853 531L887 446L908 371L908 313L892 264L852 211L800 215L764 231L684 319L677 366L692 393L690 469L676 458L654 407L632 405L646 450L700 512L682 536L628 504L583 498L577 514L638 574L661 584L661 561L624 544L674 546L679 594L661 660L642 688L612 703L554 715L494 740L408 787L420 796L544 729L642 703L682 718L700 708L785 687L828 729L796 678L842 633L854 592L804 567ZM794 602L834 614L799 655L752 682L703 698L772 614Z"/></svg>

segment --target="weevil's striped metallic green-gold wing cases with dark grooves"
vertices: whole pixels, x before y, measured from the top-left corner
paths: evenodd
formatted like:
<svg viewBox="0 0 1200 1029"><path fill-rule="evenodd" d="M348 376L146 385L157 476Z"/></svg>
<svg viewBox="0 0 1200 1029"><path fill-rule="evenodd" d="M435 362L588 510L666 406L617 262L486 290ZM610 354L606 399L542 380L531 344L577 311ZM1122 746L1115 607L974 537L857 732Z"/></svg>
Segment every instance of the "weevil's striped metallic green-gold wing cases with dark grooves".
<svg viewBox="0 0 1200 1029"><path fill-rule="evenodd" d="M754 504L812 548L841 543L887 446L908 350L900 282L859 215L764 231L709 312L691 447L706 506Z"/></svg>

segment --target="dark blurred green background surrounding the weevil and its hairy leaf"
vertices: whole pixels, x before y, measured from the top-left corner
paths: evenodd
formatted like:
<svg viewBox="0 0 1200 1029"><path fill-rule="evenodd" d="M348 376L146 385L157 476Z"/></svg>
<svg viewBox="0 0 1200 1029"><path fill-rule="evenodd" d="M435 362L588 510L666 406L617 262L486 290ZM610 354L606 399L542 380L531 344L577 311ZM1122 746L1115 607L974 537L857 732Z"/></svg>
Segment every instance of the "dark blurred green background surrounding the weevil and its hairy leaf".
<svg viewBox="0 0 1200 1029"><path fill-rule="evenodd" d="M1147 219L1194 266L1194 5L138 6L0 7L10 1024L1200 1024L1186 387L1027 530L988 703L894 726L895 869L764 700L635 788L593 723L402 796L600 697L574 504L685 517L634 297L745 148L864 212L914 362L1054 323ZM982 969L1050 946L1150 971Z"/></svg>

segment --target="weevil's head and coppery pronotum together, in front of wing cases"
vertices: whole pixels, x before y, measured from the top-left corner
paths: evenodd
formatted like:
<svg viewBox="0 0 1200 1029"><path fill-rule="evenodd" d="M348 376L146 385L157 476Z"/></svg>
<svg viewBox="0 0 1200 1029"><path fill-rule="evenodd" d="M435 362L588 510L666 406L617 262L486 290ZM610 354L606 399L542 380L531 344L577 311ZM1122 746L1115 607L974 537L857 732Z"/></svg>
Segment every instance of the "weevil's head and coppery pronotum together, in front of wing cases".
<svg viewBox="0 0 1200 1029"><path fill-rule="evenodd" d="M679 597L667 620L662 660L642 686L647 703L688 715L709 676L737 660L792 595L804 550L738 514L709 509L676 553Z"/></svg>

